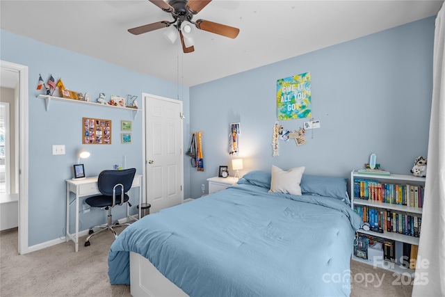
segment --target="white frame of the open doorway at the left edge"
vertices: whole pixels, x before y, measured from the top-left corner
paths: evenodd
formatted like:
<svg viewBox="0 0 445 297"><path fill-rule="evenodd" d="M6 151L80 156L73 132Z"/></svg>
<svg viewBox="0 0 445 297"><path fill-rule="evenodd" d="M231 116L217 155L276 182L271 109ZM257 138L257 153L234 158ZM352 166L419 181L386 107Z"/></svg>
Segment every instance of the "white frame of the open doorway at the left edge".
<svg viewBox="0 0 445 297"><path fill-rule="evenodd" d="M28 247L28 66L0 60L0 67L19 73L18 140L19 145L19 254L29 252Z"/></svg>

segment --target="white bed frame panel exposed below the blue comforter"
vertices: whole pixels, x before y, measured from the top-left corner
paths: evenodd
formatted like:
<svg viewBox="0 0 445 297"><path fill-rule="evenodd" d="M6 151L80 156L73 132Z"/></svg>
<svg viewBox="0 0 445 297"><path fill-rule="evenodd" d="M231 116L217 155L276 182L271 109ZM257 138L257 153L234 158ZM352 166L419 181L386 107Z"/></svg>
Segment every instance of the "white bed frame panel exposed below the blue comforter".
<svg viewBox="0 0 445 297"><path fill-rule="evenodd" d="M188 296L136 252L130 252L130 293L133 297Z"/></svg>

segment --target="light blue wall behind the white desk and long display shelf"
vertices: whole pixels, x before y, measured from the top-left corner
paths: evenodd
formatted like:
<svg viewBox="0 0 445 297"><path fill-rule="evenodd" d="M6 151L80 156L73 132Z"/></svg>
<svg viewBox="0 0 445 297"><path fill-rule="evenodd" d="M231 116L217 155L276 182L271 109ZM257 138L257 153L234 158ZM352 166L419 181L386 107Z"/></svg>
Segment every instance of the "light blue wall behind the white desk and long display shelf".
<svg viewBox="0 0 445 297"><path fill-rule="evenodd" d="M29 246L57 239L65 235L65 179L72 177L72 164L76 152L86 147L91 156L83 161L87 176L98 175L103 169L112 169L113 164L136 168L143 174L142 113L133 119L132 111L122 111L103 106L89 106L65 102L51 102L45 110L44 99L36 98L39 74L46 82L52 74L56 82L62 77L65 87L76 92L90 93L92 101L99 93L109 95L138 95L149 93L177 98L177 85L156 77L131 72L104 61L76 54L72 51L46 45L29 38L1 30L1 60L29 67ZM86 45L88 46L88 45ZM172 70L176 71L176 70ZM184 88L184 113L188 115L188 88ZM112 145L82 145L82 118L100 118L112 121ZM133 121L133 143L123 145L120 141L120 121ZM189 118L184 129L189 129ZM184 132L184 137L188 133ZM65 145L65 155L52 155L52 145ZM184 159L186 170L188 160ZM189 178L184 177L184 197L189 194ZM131 190L133 213L136 213L138 193ZM72 207L74 209L74 207ZM74 212L72 213L74 215ZM124 208L113 210L113 219L124 217ZM81 214L80 230L106 221L106 211L92 209ZM70 226L74 227L74 223Z"/></svg>

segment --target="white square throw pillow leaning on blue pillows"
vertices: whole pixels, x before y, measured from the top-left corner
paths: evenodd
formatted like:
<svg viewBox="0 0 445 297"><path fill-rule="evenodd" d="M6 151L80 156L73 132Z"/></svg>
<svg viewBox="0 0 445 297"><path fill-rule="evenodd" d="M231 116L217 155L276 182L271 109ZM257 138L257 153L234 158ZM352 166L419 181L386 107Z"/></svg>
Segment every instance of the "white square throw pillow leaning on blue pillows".
<svg viewBox="0 0 445 297"><path fill-rule="evenodd" d="M300 182L303 172L305 172L305 167L296 167L284 171L277 166L272 166L269 192L301 195Z"/></svg>

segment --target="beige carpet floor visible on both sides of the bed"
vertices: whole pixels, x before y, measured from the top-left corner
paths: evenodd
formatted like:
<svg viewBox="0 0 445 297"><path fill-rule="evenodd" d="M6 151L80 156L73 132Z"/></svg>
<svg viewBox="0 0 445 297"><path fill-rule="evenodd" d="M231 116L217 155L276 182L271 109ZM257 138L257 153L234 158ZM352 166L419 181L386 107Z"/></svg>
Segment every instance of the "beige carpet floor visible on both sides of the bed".
<svg viewBox="0 0 445 297"><path fill-rule="evenodd" d="M129 286L111 285L108 279L110 232L92 237L88 247L81 237L79 252L70 241L26 255L17 253L17 233L17 228L0 232L0 296L131 296ZM412 292L406 284L410 280L355 261L350 279L353 297L408 297Z"/></svg>

